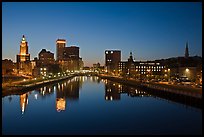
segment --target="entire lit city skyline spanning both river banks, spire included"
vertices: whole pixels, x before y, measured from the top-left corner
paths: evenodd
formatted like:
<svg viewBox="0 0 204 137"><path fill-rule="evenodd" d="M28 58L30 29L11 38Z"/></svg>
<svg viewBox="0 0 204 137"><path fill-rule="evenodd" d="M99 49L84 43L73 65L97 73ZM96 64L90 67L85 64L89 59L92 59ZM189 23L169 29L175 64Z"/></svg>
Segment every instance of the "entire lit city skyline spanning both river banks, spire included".
<svg viewBox="0 0 204 137"><path fill-rule="evenodd" d="M66 45L65 39L56 40L56 60L54 53L46 49L39 52L38 58L30 60L28 42L23 36L16 63L3 60L2 75L14 72L18 76L43 77L85 70L144 81L179 79L202 84L202 57L189 56L188 43L186 43L184 56L154 61L136 61L133 59L132 52L127 61L122 61L121 50L105 50L105 65L96 63L91 68L84 67L82 58L79 56L79 47Z"/></svg>

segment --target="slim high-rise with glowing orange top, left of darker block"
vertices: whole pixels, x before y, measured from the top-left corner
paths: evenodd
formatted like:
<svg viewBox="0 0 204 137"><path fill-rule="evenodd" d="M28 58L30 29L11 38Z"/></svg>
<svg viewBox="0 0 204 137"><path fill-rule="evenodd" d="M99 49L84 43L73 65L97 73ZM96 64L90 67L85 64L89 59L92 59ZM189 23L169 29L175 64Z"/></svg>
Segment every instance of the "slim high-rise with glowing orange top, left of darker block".
<svg viewBox="0 0 204 137"><path fill-rule="evenodd" d="M66 40L65 39L57 39L56 46L57 46L57 57L56 57L56 60L57 61L63 60L64 48L66 46Z"/></svg>

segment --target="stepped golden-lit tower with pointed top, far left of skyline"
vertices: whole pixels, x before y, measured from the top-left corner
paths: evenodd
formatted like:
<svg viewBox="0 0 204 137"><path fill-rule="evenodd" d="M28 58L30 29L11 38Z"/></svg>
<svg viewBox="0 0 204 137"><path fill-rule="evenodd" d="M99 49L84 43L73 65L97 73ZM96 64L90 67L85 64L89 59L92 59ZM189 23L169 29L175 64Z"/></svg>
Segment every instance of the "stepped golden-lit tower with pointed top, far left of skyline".
<svg viewBox="0 0 204 137"><path fill-rule="evenodd" d="M17 55L17 63L25 61L30 61L30 54L28 54L28 42L26 41L25 36L23 35L20 44L20 53Z"/></svg>

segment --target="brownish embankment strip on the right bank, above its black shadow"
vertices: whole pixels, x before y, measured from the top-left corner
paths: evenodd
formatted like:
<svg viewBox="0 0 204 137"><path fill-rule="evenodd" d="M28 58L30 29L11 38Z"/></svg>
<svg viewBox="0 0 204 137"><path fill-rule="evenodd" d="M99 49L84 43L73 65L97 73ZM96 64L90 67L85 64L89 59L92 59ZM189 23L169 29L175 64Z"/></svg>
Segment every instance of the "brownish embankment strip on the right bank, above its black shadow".
<svg viewBox="0 0 204 137"><path fill-rule="evenodd" d="M193 88L184 85L167 85L162 83L153 82L139 82L133 79L124 79L121 77L111 77L107 75L98 75L100 78L109 79L112 81L120 82L130 86L137 86L145 89L155 89L167 93L173 93L177 95L185 95L198 99L202 99L202 88Z"/></svg>

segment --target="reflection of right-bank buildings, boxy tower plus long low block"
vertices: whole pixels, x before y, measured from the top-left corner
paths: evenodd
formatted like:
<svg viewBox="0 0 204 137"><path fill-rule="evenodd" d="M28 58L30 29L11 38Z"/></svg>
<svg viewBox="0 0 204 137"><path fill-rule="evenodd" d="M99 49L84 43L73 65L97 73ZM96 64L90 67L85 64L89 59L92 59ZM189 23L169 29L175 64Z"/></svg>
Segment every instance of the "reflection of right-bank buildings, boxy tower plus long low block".
<svg viewBox="0 0 204 137"><path fill-rule="evenodd" d="M131 97L150 96L146 92L130 86L124 86L109 80L103 81L105 82L105 100L120 100L121 93L127 93Z"/></svg>

